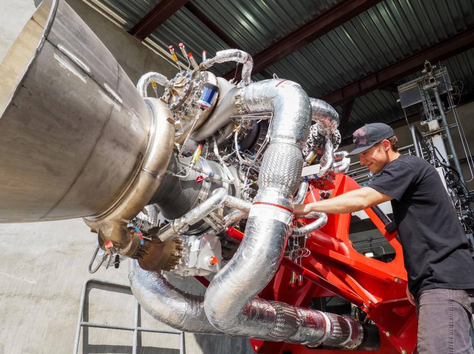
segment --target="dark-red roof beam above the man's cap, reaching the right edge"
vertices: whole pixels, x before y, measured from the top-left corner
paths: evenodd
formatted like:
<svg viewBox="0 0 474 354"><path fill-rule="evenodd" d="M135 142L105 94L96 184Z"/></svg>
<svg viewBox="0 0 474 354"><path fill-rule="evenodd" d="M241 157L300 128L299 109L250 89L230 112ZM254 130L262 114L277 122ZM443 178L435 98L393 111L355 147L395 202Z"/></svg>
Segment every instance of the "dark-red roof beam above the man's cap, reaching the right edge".
<svg viewBox="0 0 474 354"><path fill-rule="evenodd" d="M402 59L388 67L367 75L349 85L334 90L323 97L332 106L339 106L370 91L385 87L395 80L415 71L421 71L425 60L435 62L461 53L474 46L474 27L454 35L429 48Z"/></svg>

